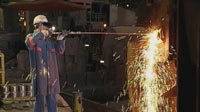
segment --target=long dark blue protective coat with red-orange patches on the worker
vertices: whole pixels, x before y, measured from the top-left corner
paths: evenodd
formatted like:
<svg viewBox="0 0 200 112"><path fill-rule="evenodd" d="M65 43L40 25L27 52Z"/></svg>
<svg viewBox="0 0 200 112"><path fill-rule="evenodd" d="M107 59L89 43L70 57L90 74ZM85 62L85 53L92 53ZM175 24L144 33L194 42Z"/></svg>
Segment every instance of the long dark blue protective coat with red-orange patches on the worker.
<svg viewBox="0 0 200 112"><path fill-rule="evenodd" d="M25 43L29 49L34 95L56 94L60 92L57 54L65 50L64 40L44 38L39 30L27 36Z"/></svg>

